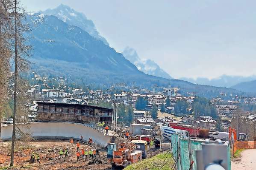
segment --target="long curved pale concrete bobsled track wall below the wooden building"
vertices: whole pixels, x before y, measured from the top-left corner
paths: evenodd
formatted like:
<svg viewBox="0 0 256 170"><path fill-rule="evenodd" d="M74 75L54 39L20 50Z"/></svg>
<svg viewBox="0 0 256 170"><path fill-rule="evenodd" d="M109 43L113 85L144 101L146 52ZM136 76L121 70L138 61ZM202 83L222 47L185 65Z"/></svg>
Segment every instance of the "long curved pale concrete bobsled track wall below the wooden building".
<svg viewBox="0 0 256 170"><path fill-rule="evenodd" d="M17 126L23 132L31 133L32 137L38 139L79 139L82 135L84 140L88 141L89 138L92 138L93 142L100 144L101 146L106 146L110 139L110 136L106 136L98 130L82 123L31 122L26 124L18 124ZM2 125L1 139L12 139L12 125Z"/></svg>

